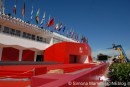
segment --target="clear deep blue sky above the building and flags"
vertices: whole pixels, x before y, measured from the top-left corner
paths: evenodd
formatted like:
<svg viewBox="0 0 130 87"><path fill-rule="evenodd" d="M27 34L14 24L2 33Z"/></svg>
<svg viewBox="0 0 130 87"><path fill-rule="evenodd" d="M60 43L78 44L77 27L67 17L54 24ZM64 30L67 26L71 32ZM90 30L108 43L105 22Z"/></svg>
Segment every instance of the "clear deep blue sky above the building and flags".
<svg viewBox="0 0 130 87"><path fill-rule="evenodd" d="M15 0L5 0L5 12L13 15ZM40 20L46 11L55 21L61 21L67 28L88 38L94 55L106 51L111 44L122 44L130 56L130 0L16 0L17 15L22 18L21 9L25 1L25 21L30 21L32 5L34 16L40 8ZM33 24L36 24L34 19ZM108 51L106 51L108 52ZM110 51L108 52L111 53ZM107 54L107 53L106 53Z"/></svg>

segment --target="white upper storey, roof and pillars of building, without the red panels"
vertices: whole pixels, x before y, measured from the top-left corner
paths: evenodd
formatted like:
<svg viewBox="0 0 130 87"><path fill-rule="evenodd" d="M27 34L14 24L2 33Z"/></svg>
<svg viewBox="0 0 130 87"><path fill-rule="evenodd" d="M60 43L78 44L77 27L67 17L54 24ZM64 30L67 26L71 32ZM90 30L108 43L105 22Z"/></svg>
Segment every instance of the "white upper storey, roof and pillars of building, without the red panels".
<svg viewBox="0 0 130 87"><path fill-rule="evenodd" d="M58 33L25 23L19 18L0 14L0 60L3 48L12 47L19 50L19 61L22 61L23 50L26 49L35 52L34 61L36 61L37 55L43 55L46 48L62 41L77 42Z"/></svg>

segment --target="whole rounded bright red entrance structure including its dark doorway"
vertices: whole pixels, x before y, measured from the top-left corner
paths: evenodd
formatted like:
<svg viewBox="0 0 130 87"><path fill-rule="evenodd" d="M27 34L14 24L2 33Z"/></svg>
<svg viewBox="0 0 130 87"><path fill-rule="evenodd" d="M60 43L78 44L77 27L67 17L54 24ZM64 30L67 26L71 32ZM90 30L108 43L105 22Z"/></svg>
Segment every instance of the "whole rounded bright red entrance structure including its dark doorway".
<svg viewBox="0 0 130 87"><path fill-rule="evenodd" d="M88 44L61 42L47 48L44 61L60 63L89 63L92 62L91 48Z"/></svg>

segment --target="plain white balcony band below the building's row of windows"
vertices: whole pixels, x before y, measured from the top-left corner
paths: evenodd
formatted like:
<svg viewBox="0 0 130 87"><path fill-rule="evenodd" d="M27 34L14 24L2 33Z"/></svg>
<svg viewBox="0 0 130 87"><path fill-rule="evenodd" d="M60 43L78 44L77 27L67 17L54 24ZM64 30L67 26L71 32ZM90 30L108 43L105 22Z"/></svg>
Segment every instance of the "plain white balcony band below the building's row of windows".
<svg viewBox="0 0 130 87"><path fill-rule="evenodd" d="M2 47L11 46L17 49L45 50L47 47L49 47L49 44L9 34L0 33L0 46Z"/></svg>

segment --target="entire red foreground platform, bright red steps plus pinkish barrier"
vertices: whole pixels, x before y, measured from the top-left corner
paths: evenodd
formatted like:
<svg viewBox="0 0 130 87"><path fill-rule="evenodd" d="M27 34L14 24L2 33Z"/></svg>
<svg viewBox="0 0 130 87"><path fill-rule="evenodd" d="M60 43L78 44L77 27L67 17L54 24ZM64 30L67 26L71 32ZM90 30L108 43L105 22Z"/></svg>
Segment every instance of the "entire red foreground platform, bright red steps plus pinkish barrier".
<svg viewBox="0 0 130 87"><path fill-rule="evenodd" d="M30 81L0 81L0 87L25 87L21 85L32 85L32 87L62 87L68 86L69 81L99 81L108 67L108 64L57 64L57 65L17 65L0 66L0 77L8 78L32 78ZM45 74L49 70L62 69L64 74ZM97 72L98 71L98 72ZM24 73L27 72L27 73ZM59 78L60 77L60 78ZM98 78L97 78L98 77ZM48 83L48 84L47 84ZM8 86L7 86L8 84ZM5 86L4 86L5 85Z"/></svg>

